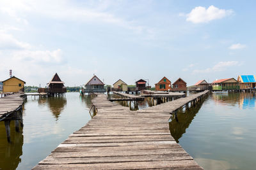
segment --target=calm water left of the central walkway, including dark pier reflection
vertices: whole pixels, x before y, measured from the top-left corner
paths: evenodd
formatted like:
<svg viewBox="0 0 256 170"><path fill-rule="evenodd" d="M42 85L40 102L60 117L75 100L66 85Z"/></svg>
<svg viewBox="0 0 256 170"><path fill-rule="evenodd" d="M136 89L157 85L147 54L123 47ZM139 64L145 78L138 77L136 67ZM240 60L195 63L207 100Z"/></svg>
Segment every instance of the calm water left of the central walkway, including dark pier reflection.
<svg viewBox="0 0 256 170"><path fill-rule="evenodd" d="M4 122L0 122L0 169L34 167L91 119L90 104L90 98L79 93L42 99L28 96L24 104L24 128L15 132L11 122L11 144L6 140Z"/></svg>

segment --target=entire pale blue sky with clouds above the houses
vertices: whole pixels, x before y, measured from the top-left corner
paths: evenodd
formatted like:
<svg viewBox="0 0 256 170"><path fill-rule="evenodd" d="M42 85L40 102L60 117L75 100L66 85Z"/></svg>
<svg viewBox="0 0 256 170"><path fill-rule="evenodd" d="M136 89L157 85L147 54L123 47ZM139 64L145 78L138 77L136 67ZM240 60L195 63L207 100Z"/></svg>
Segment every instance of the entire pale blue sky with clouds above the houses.
<svg viewBox="0 0 256 170"><path fill-rule="evenodd" d="M194 85L256 74L256 1L0 0L0 80Z"/></svg>

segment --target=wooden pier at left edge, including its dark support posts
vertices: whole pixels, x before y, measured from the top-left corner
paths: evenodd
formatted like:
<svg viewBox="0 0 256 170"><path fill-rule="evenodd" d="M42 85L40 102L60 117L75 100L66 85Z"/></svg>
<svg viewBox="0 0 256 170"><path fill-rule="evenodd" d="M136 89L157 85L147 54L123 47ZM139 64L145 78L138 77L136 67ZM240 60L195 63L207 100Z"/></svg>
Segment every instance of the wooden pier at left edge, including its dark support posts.
<svg viewBox="0 0 256 170"><path fill-rule="evenodd" d="M11 94L9 96L0 98L0 121L4 121L6 135L8 142L10 138L10 122L15 120L15 131L19 132L19 124L23 126L22 122L22 104L24 99L20 97L21 94Z"/></svg>

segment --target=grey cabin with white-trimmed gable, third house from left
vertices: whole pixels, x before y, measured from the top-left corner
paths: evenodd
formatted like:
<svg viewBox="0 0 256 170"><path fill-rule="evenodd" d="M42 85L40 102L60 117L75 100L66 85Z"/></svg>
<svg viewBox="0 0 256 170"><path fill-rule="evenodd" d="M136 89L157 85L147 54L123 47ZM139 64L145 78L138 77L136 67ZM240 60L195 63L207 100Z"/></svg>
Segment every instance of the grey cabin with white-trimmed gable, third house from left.
<svg viewBox="0 0 256 170"><path fill-rule="evenodd" d="M85 93L93 93L93 92L104 93L106 92L106 89L104 89L104 83L97 76L93 76L91 80L89 80L84 85L84 92Z"/></svg>

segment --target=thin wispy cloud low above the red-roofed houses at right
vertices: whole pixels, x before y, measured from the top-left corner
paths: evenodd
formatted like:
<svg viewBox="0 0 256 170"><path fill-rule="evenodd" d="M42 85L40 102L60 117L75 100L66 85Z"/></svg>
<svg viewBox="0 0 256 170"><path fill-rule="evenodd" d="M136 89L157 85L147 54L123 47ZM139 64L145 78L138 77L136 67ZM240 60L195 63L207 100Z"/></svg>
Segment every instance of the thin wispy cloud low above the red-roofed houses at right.
<svg viewBox="0 0 256 170"><path fill-rule="evenodd" d="M215 66L209 67L207 69L195 69L193 71L193 74L225 71L227 67L238 66L238 65L239 65L238 61L221 61L221 62L218 62Z"/></svg>

